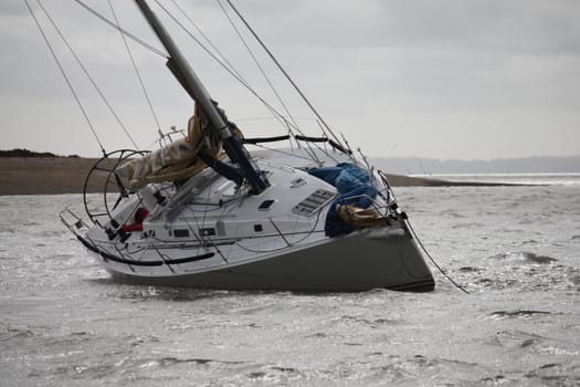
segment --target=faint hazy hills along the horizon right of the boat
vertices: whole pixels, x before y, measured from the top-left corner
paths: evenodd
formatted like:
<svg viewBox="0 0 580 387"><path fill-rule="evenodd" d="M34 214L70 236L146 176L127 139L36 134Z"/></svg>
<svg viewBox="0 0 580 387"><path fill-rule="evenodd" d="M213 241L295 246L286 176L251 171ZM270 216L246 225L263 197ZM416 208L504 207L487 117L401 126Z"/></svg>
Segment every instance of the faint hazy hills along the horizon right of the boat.
<svg viewBox="0 0 580 387"><path fill-rule="evenodd" d="M498 158L493 160L437 160L419 157L378 157L375 165L390 174L573 174L580 155L570 157Z"/></svg>

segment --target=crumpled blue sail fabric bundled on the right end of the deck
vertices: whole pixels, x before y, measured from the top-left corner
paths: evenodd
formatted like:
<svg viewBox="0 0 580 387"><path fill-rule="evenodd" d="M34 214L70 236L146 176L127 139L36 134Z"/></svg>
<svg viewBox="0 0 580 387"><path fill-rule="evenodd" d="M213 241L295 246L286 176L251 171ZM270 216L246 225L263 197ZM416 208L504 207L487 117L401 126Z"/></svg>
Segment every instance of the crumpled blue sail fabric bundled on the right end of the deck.
<svg viewBox="0 0 580 387"><path fill-rule="evenodd" d="M336 237L351 232L352 228L338 217L337 209L345 205L369 208L377 196L377 190L372 188L370 172L354 164L340 163L336 167L310 168L308 174L331 184L338 190L338 197L330 205L326 216L326 236Z"/></svg>

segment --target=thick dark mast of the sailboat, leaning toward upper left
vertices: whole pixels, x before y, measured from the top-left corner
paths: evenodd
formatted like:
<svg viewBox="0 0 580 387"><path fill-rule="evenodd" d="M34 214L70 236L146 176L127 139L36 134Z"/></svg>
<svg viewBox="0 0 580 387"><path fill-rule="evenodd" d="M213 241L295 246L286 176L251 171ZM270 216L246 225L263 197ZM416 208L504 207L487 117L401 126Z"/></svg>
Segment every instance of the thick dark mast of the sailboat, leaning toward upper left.
<svg viewBox="0 0 580 387"><path fill-rule="evenodd" d="M169 61L167 62L168 67L171 70L173 75L177 77L179 83L186 88L191 97L200 105L201 111L208 117L212 130L214 130L223 143L223 148L230 159L236 163L242 170L242 175L252 186L253 194L260 194L267 186L267 181L263 174L260 171L257 166L251 160L247 150L232 135L226 122L220 115L220 112L213 104L210 94L201 83L200 79L191 69L186 57L181 54L172 38L169 35L165 27L161 24L159 18L149 8L145 0L135 0L137 7L139 7L143 15L154 30L155 34L167 52L169 53Z"/></svg>

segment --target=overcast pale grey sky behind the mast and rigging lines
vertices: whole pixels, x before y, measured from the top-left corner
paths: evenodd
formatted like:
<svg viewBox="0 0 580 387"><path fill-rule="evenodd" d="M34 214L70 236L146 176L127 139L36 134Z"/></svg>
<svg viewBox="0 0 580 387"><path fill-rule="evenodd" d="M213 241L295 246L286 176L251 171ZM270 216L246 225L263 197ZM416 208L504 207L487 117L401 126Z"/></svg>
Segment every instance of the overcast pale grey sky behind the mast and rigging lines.
<svg viewBox="0 0 580 387"><path fill-rule="evenodd" d="M110 15L105 0L86 2ZM274 101L217 2L177 2ZM73 1L42 3L138 145L148 147L157 127L118 33ZM171 1L162 3L175 10ZM370 156L489 159L580 154L580 1L234 3L330 126ZM123 25L160 46L131 1L117 0L115 7ZM0 149L97 156L91 129L24 1L0 2ZM253 98L167 22L212 96L246 135L283 133L273 121L246 121L267 114L253 107ZM44 19L43 25L48 27ZM50 36L64 55L106 150L130 146L63 44L52 31ZM161 127L184 127L191 101L165 70L162 59L133 42L130 46ZM282 84L278 75L273 80ZM306 115L286 86L281 92L291 107L298 105L293 109L296 116ZM314 122L300 123L306 124L306 134L319 134Z"/></svg>

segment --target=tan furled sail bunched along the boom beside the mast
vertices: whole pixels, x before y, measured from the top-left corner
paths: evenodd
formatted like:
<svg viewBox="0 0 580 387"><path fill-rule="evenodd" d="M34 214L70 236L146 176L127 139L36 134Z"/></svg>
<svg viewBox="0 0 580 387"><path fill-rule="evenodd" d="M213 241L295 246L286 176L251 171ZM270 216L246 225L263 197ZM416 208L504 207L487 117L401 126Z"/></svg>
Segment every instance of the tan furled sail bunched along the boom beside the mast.
<svg viewBox="0 0 580 387"><path fill-rule="evenodd" d="M223 111L220 109L223 114ZM235 124L232 133L242 137ZM116 169L116 174L128 180L131 189L147 184L176 181L190 178L207 167L208 159L222 157L222 143L209 128L201 108L196 105L193 116L188 122L186 138L175 140L162 148L148 153L141 158L129 159Z"/></svg>

